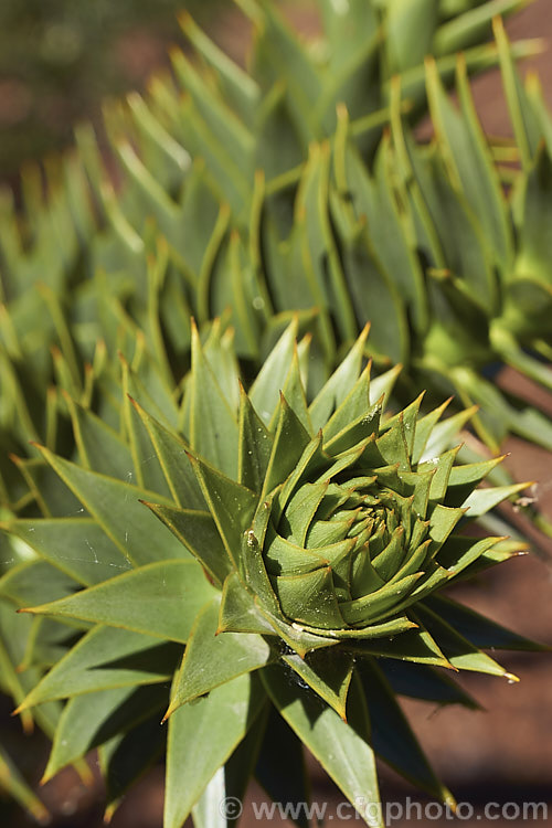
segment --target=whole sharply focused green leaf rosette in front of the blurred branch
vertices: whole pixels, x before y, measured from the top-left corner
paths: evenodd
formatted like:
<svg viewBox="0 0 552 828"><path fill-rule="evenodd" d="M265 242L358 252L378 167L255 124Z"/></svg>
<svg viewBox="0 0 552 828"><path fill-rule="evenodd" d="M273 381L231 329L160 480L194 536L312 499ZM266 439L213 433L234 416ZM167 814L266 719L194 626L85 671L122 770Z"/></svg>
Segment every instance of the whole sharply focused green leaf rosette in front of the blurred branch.
<svg viewBox="0 0 552 828"><path fill-rule="evenodd" d="M422 396L388 412L397 369L371 378L367 331L311 394L297 332L247 391L220 323L193 329L182 399L144 358L124 362L119 434L67 397L79 459L41 447L51 511L3 527L36 558L0 597L64 654L49 662L29 625L42 678L19 712L67 700L45 778L98 747L109 814L166 732L166 828L190 814L206 828L253 774L276 802L308 802L302 745L370 825L376 755L453 805L396 693L476 707L448 676L512 680L485 649L538 647L438 594L521 551L466 531L521 488L478 488L499 459L457 465L470 412L442 418ZM43 584L53 599L35 606Z"/></svg>

